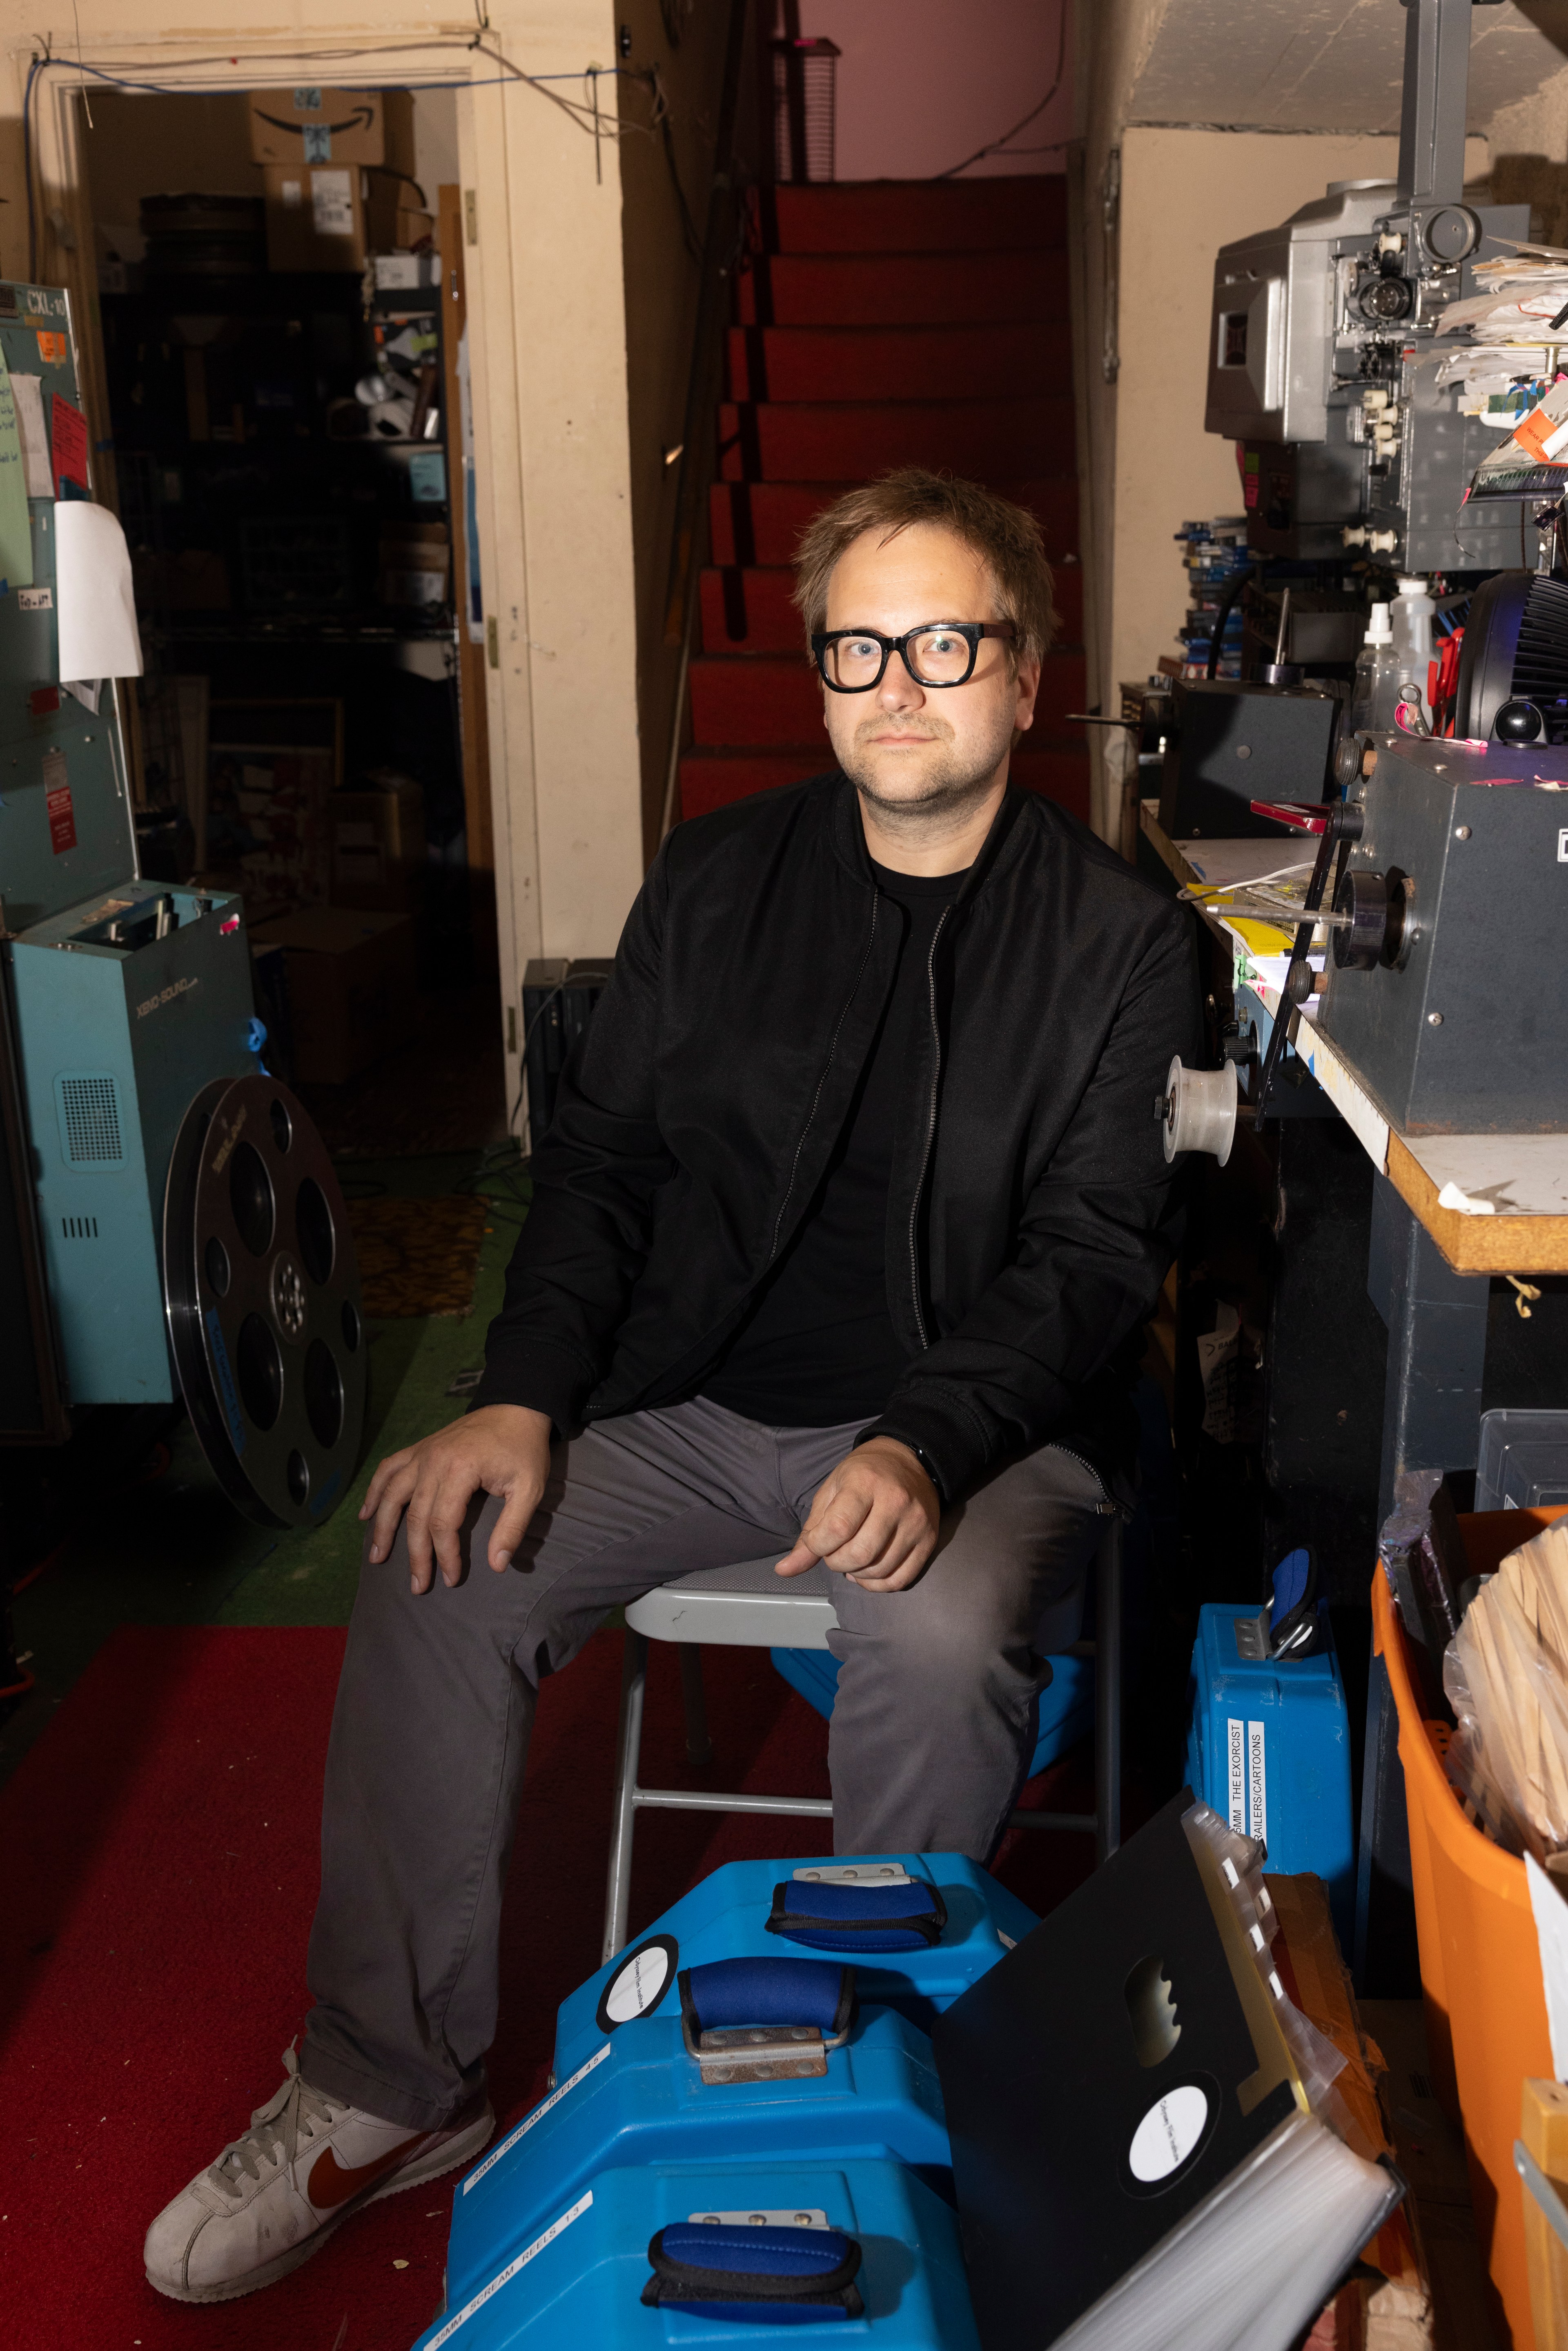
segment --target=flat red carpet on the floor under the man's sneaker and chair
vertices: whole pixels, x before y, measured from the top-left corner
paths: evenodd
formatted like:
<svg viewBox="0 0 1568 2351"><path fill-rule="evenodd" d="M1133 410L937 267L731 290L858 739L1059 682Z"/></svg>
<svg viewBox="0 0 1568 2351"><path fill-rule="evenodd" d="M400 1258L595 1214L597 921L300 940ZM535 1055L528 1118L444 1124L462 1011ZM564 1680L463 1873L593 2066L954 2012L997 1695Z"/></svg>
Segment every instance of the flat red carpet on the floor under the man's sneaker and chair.
<svg viewBox="0 0 1568 2351"><path fill-rule="evenodd" d="M449 2189L350 2222L254 2299L183 2309L141 2273L153 2212L273 2095L308 1994L317 1801L343 1634L118 1632L0 1794L0 2339L7 2351L407 2351L440 2292ZM555 2008L592 1972L621 1636L545 1686L505 1921L491 2076L503 2121L543 2090ZM764 1650L708 1653L703 1777L827 1794L827 1726ZM654 1650L644 1777L684 1763L675 1653ZM1088 1808L1070 1756L1030 1801ZM719 1862L820 1850L816 1822L644 1815L632 1928ZM1037 1909L1081 1836L1018 1834L999 1874Z"/></svg>

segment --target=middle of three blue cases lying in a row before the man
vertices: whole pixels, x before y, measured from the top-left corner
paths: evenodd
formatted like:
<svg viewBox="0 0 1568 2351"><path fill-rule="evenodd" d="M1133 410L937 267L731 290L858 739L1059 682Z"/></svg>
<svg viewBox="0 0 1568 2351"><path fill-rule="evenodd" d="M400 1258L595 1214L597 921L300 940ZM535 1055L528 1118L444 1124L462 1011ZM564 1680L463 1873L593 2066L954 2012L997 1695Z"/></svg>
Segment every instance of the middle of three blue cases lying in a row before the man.
<svg viewBox="0 0 1568 2351"><path fill-rule="evenodd" d="M790 1977L827 1984L832 2012L844 1970L827 1961L738 1961L698 1970L736 1972L738 2001L717 2015L733 2024L790 2027L820 2022L823 2005L799 1998ZM783 1975L780 1998L757 1994L755 1980ZM703 2003L703 2017L715 2010ZM701 2022L701 2020L698 2020ZM696 2038L696 2036L693 2036ZM715 2036L710 2034L708 2041ZM562 2078L522 2123L505 2132L458 2184L451 2203L447 2295L465 2302L522 2245L604 2170L632 2165L705 2165L750 2158L785 2163L797 2156L896 2156L952 2196L947 2123L931 2043L891 2008L860 2005L839 2045L820 2041L790 2052L788 2031L755 2052L748 2034L719 2034L733 2050L696 2055L682 2012L637 2017L602 2034L590 2057ZM780 2064L820 2064L816 2074L773 2078L705 2078L750 2071L762 2055ZM733 2203L733 2196L729 2198Z"/></svg>

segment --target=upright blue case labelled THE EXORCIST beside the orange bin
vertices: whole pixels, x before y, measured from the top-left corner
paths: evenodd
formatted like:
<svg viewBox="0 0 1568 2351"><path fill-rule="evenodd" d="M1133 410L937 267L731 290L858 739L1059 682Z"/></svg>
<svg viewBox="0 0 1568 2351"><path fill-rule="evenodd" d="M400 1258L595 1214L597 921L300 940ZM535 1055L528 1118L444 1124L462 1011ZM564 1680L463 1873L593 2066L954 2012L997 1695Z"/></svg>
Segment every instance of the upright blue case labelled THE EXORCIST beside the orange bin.
<svg viewBox="0 0 1568 2351"><path fill-rule="evenodd" d="M1312 1869L1328 1886L1340 1942L1354 1928L1349 1716L1340 1660L1319 1615L1316 1655L1269 1655L1258 1608L1199 1610L1192 1650L1187 1782L1269 1869Z"/></svg>

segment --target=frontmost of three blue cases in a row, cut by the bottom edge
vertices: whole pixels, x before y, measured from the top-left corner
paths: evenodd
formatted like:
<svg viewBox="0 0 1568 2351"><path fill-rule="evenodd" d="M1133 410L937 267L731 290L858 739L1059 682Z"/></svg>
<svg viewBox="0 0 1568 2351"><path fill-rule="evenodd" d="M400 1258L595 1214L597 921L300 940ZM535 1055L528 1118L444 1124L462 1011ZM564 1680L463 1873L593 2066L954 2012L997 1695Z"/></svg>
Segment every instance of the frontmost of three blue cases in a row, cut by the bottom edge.
<svg viewBox="0 0 1568 2351"><path fill-rule="evenodd" d="M860 2248L860 2316L790 2311L762 2318L649 2306L649 2243L682 2222L726 2219L769 2233L839 2229ZM802 2231L804 2233L804 2231ZM745 2344L778 2351L785 2313L827 2325L827 2342L877 2351L978 2351L959 2224L914 2172L889 2161L649 2163L607 2170L562 2196L550 2219L458 2292L414 2351L696 2351ZM799 2335L795 2335L799 2339Z"/></svg>

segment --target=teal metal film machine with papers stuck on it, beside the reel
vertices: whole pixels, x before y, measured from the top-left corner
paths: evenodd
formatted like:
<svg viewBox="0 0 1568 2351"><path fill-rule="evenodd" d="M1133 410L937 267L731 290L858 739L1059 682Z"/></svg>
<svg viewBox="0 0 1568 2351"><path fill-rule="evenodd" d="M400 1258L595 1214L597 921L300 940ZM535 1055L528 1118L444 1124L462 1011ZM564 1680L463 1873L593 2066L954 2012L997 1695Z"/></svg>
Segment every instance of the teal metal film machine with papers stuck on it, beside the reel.
<svg viewBox="0 0 1568 2351"><path fill-rule="evenodd" d="M68 296L0 284L0 353L16 402L35 383L24 447L42 430L47 470L82 407ZM256 1067L249 945L237 898L136 872L115 684L87 682L89 710L59 675L54 491L92 482L47 489L33 581L0 592L0 926L45 1281L71 1404L167 1404L165 1176L190 1096Z"/></svg>

